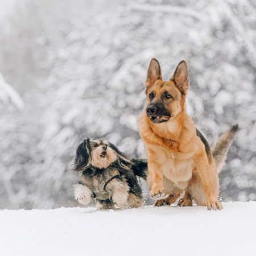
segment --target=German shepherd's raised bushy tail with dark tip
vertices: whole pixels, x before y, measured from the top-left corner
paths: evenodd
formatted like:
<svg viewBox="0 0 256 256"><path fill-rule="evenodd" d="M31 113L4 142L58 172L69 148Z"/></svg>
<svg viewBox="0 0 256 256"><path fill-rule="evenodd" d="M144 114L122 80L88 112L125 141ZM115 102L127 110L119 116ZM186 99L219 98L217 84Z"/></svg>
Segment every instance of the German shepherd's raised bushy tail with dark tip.
<svg viewBox="0 0 256 256"><path fill-rule="evenodd" d="M231 146L234 135L238 131L238 125L232 126L228 131L221 135L212 149L213 158L216 163L217 171L220 172L225 163L226 155L228 154L229 147Z"/></svg>

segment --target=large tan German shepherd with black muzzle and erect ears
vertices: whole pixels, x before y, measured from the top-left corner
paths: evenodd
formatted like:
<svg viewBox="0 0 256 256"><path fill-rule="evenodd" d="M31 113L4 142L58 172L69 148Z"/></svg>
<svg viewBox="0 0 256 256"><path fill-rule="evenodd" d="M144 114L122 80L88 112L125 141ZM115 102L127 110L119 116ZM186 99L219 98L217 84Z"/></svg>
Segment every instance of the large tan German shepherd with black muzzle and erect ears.
<svg viewBox="0 0 256 256"><path fill-rule="evenodd" d="M147 104L138 118L139 133L148 158L147 183L156 206L178 203L222 209L218 200L218 172L225 162L238 125L222 134L211 150L185 112L189 86L187 64L181 61L170 81L163 81L158 61L152 59L145 82Z"/></svg>

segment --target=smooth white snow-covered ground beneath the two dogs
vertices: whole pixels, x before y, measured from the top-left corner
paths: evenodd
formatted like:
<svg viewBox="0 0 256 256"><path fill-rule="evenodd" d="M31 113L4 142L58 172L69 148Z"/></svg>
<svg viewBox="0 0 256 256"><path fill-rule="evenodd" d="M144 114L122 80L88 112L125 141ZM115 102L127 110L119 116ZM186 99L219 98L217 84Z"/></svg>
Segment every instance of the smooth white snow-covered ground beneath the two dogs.
<svg viewBox="0 0 256 256"><path fill-rule="evenodd" d="M0 210L0 255L255 255L256 202Z"/></svg>

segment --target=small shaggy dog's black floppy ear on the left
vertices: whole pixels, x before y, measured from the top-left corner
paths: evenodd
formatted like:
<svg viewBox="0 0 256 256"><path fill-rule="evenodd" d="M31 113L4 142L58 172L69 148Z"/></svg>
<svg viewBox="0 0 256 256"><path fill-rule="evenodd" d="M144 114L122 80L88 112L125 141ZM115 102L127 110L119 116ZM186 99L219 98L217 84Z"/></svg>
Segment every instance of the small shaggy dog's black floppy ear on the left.
<svg viewBox="0 0 256 256"><path fill-rule="evenodd" d="M74 171L83 172L90 166L90 154L92 148L90 147L90 139L85 139L76 150L76 157L74 162Z"/></svg>

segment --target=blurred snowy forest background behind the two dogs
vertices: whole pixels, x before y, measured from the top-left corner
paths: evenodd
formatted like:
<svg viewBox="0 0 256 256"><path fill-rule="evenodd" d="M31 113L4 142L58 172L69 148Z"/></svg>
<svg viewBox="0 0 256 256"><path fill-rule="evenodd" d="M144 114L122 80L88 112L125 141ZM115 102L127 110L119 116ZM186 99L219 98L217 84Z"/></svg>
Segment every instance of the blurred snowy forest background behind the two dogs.
<svg viewBox="0 0 256 256"><path fill-rule="evenodd" d="M164 79L187 61L187 110L210 143L239 123L221 196L256 200L255 14L254 0L1 0L0 208L77 205L84 137L143 158L151 57Z"/></svg>

